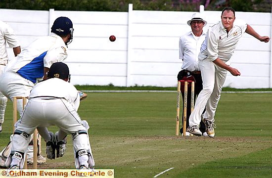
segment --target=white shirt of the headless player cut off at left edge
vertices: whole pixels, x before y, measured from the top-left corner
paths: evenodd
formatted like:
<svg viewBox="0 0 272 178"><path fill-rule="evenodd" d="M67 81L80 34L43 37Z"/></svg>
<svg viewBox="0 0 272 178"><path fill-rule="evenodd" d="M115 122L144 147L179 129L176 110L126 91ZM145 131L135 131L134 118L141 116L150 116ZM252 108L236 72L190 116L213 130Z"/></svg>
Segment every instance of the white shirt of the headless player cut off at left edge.
<svg viewBox="0 0 272 178"><path fill-rule="evenodd" d="M12 48L20 46L13 29L5 22L0 21L0 63L8 60L6 44Z"/></svg>

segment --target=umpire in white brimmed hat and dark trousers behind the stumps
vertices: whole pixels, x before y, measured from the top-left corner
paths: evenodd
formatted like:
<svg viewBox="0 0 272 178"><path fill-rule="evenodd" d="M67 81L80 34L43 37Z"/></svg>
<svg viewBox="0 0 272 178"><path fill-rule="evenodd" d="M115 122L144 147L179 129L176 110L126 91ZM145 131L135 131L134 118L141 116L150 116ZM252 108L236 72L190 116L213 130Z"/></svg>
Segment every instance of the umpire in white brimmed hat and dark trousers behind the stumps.
<svg viewBox="0 0 272 178"><path fill-rule="evenodd" d="M200 52L200 47L205 40L206 33L203 32L203 27L207 24L201 13L194 13L192 18L187 21L187 24L191 27L191 31L187 32L180 38L180 59L182 59L183 64L181 66L181 71L178 74L178 81L180 80L194 80L195 81L195 91L194 100L199 92L202 90L202 79L201 72L198 67L198 54ZM188 93L191 93L191 85L188 85ZM181 94L184 107L184 83L181 83ZM188 101L191 100L191 95L187 95ZM187 102L190 103L190 102ZM191 114L190 105L187 106L187 120L186 128L189 126L189 117ZM183 114L182 114L183 118ZM183 119L182 119L183 125ZM206 127L203 122L200 123L199 130L204 134L206 132ZM183 133L183 128L180 132ZM186 132L186 135L189 133ZM205 135L205 134L204 134Z"/></svg>

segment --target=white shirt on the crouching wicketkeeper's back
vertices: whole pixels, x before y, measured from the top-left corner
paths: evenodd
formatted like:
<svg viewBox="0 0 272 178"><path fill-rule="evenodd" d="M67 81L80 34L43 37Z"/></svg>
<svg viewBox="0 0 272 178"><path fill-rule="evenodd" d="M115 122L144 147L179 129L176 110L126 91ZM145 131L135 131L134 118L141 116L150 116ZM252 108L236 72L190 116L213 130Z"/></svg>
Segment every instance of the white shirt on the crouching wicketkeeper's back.
<svg viewBox="0 0 272 178"><path fill-rule="evenodd" d="M30 91L29 99L36 97L63 98L78 110L80 103L79 91L69 82L51 78L38 83Z"/></svg>

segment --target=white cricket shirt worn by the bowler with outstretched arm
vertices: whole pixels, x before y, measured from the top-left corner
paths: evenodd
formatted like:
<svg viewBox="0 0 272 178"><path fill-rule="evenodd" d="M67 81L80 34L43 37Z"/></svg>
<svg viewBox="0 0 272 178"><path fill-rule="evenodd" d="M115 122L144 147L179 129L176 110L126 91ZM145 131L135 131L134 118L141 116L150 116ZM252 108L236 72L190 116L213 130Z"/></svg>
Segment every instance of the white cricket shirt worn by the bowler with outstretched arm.
<svg viewBox="0 0 272 178"><path fill-rule="evenodd" d="M208 29L204 43L201 45L199 60L214 61L220 58L227 62L246 28L247 23L242 20L235 20L228 33L221 21L211 26Z"/></svg>

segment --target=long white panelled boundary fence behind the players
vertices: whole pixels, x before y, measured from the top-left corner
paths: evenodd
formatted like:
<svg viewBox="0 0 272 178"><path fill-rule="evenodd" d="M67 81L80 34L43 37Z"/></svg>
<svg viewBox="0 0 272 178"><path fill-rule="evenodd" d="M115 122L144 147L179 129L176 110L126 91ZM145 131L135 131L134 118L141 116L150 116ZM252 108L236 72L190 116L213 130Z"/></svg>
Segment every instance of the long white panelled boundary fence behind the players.
<svg viewBox="0 0 272 178"><path fill-rule="evenodd" d="M200 11L208 25L220 21L221 11ZM190 31L186 24L195 12L145 11L94 12L0 9L0 19L8 23L25 48L40 36L46 36L59 16L74 24L74 40L68 45L68 64L72 84L114 86L177 85L181 70L179 38ZM272 14L236 12L237 19L248 22L260 35L272 36ZM109 36L116 41L110 42ZM245 34L232 56L231 65L241 76L228 74L225 87L272 88L272 45ZM12 50L9 48L9 57Z"/></svg>

